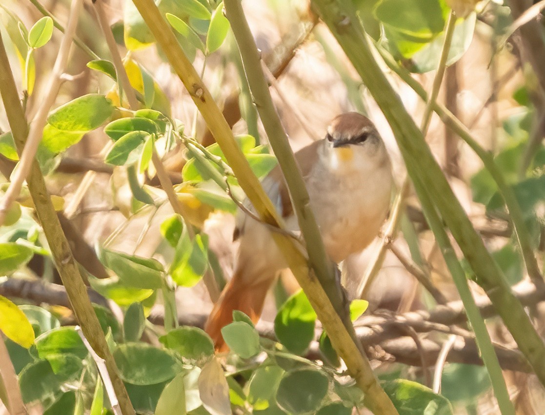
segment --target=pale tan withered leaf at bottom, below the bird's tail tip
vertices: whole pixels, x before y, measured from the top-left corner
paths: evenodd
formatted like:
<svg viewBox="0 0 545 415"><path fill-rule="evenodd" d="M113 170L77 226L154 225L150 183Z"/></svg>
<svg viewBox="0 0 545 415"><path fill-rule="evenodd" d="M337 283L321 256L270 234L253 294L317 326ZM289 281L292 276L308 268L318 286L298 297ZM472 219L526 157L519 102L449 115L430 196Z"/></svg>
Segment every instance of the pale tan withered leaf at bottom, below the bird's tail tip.
<svg viewBox="0 0 545 415"><path fill-rule="evenodd" d="M210 413L231 413L229 386L221 364L215 357L202 368L198 386L203 405Z"/></svg>

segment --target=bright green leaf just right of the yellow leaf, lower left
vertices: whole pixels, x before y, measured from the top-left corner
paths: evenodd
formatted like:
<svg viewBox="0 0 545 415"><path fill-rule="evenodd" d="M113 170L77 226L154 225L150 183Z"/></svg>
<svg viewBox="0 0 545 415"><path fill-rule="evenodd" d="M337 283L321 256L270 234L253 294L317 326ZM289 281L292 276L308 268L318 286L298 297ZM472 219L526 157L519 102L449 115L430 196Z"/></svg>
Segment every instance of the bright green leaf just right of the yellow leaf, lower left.
<svg viewBox="0 0 545 415"><path fill-rule="evenodd" d="M74 327L54 328L39 335L35 343L38 356L42 359L49 359L52 356L62 355L62 353L71 353L83 359L87 357L88 353Z"/></svg>

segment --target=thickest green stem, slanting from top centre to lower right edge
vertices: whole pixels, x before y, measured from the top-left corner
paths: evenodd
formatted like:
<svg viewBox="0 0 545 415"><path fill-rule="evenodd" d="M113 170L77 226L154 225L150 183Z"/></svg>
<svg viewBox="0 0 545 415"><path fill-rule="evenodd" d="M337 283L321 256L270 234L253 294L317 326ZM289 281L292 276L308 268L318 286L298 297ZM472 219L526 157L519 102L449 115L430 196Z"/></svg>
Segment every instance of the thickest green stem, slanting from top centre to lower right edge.
<svg viewBox="0 0 545 415"><path fill-rule="evenodd" d="M349 0L313 0L312 4L389 121L411 179L413 182L420 180L422 183L422 187L417 188L419 198L429 196L437 206L441 217L473 268L477 282L485 289L520 351L528 359L538 379L545 385L543 340L532 326L522 304L513 295L498 264L473 228L422 133L375 62L353 3ZM425 168L422 168L423 166Z"/></svg>

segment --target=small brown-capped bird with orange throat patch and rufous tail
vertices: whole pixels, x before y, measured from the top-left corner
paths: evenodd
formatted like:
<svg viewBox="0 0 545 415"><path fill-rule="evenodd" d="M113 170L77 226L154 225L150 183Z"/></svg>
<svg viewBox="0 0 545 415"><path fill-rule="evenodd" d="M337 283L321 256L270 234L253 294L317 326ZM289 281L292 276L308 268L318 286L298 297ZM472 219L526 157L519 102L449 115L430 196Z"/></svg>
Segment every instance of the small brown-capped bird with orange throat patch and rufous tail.
<svg viewBox="0 0 545 415"><path fill-rule="evenodd" d="M335 117L325 137L295 152L320 229L326 254L335 263L361 252L379 233L390 207L391 162L372 121L356 112ZM262 181L282 215L286 229L296 233L298 221L283 178L276 166ZM250 206L249 202L246 202ZM265 296L277 274L287 268L271 230L240 211L233 240L239 240L233 277L226 284L204 329L216 351L228 350L222 327L240 310L257 323Z"/></svg>

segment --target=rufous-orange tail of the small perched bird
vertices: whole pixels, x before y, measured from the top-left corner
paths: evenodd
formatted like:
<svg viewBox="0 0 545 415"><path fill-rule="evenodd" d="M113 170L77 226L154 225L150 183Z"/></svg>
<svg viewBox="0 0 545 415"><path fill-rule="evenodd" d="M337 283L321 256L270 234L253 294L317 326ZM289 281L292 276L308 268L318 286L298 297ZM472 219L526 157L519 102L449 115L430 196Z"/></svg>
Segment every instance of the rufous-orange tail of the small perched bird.
<svg viewBox="0 0 545 415"><path fill-rule="evenodd" d="M234 310L240 310L248 315L254 324L257 323L270 285L271 281L269 279L253 284L247 283L241 278L240 273L235 273L234 277L223 289L219 300L214 304L214 308L204 325L204 330L214 341L216 351L224 352L228 350L221 335L221 329L233 321Z"/></svg>

